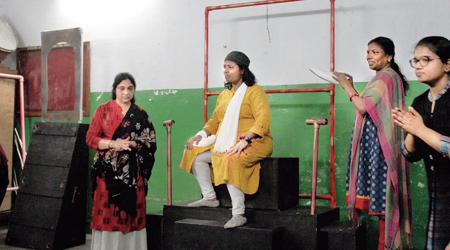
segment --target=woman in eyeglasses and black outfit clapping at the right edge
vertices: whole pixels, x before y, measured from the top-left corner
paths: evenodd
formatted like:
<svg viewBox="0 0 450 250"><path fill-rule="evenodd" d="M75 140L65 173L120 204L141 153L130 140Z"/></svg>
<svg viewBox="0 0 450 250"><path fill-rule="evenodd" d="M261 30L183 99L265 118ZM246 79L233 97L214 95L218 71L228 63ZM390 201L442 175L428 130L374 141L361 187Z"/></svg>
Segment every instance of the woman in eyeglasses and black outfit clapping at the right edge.
<svg viewBox="0 0 450 250"><path fill-rule="evenodd" d="M403 154L423 158L429 210L426 249L450 250L450 41L442 36L421 39L410 61L429 90L415 97L408 111L392 110L394 122L407 132Z"/></svg>

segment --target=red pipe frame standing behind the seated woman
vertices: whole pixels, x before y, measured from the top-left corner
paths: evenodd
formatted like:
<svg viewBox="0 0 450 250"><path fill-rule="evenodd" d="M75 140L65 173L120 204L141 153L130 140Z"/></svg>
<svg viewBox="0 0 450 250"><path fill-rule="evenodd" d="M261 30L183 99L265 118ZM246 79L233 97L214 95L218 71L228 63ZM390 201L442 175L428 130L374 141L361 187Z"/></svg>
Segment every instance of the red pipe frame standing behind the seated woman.
<svg viewBox="0 0 450 250"><path fill-rule="evenodd" d="M266 0L236 3L229 5L208 6L204 8L204 87L203 87L203 121L206 123L208 118L208 97L210 95L218 95L219 91L209 91L208 89L208 16L209 11L227 8L248 7L264 4L283 3L301 0ZM330 0L330 71L334 71L334 0ZM327 199L330 201L331 207L336 207L336 191L334 184L334 84L329 87L318 88L286 88L286 89L265 89L266 93L301 93L301 92L329 92L329 178L330 178L330 193L319 194L316 198ZM299 194L299 198L307 198L311 195Z"/></svg>

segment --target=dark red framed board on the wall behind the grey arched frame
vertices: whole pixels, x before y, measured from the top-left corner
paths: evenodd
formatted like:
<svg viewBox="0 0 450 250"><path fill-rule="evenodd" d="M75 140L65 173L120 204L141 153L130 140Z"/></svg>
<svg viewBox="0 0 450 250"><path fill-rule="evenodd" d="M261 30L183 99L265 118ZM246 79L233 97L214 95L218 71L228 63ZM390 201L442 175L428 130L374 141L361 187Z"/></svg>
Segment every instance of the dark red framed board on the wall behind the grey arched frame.
<svg viewBox="0 0 450 250"><path fill-rule="evenodd" d="M40 47L17 49L17 71L24 78L26 116L40 116ZM75 53L72 47L55 47L47 57L48 111L73 110L75 103ZM83 115L89 115L90 46L83 43Z"/></svg>

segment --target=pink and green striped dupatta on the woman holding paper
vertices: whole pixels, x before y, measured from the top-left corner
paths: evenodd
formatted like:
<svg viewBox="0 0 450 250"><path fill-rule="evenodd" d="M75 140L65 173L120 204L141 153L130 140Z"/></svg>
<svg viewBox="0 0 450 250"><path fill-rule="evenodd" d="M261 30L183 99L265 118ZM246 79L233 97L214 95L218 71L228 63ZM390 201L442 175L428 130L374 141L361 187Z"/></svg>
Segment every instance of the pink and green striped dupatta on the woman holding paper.
<svg viewBox="0 0 450 250"><path fill-rule="evenodd" d="M401 154L404 134L394 125L391 109L404 110L404 91L400 77L392 69L378 72L365 86L361 97L367 114L370 115L378 131L386 165L386 208L385 208L385 249L403 249L400 230L405 233L409 248L412 248L411 199L409 191L409 165ZM355 211L356 181L359 166L359 147L365 115L356 112L353 141L350 156L349 205L356 226L358 214Z"/></svg>

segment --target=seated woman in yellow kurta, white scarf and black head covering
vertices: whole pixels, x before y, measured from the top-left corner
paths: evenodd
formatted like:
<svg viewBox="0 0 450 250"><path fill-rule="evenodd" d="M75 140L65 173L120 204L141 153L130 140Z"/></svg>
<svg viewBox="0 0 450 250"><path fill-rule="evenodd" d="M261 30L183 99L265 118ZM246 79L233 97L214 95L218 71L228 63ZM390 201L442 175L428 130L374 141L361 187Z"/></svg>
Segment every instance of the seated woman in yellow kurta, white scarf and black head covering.
<svg viewBox="0 0 450 250"><path fill-rule="evenodd" d="M186 142L180 163L181 168L194 174L203 195L188 206L218 206L211 182L226 184L232 217L225 228L247 222L244 193L257 191L259 161L269 156L273 148L268 99L261 86L255 84L249 64L248 57L239 51L225 57L225 89L203 129Z"/></svg>

